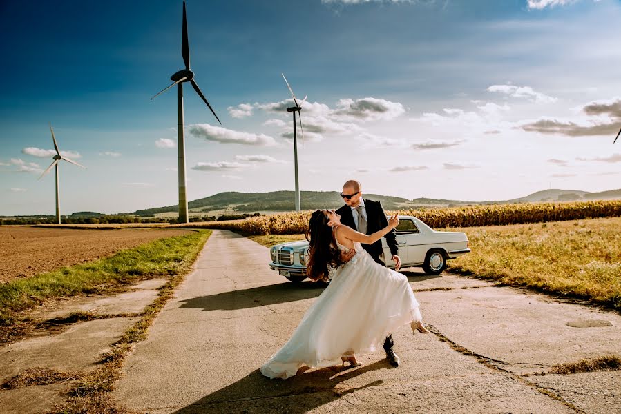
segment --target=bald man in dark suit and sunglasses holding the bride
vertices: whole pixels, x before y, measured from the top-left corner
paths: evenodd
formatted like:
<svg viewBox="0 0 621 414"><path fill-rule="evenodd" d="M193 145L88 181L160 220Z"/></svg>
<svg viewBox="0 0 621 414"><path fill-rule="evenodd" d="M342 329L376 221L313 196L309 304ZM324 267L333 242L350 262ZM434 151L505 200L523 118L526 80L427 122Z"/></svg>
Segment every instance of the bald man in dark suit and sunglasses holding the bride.
<svg viewBox="0 0 621 414"><path fill-rule="evenodd" d="M341 215L342 224L350 226L360 233L365 233L365 235L370 235L388 226L388 220L381 203L379 201L363 199L362 186L358 181L350 180L343 184L341 197L345 201L345 206L336 210L336 213ZM392 253L392 260L397 262L395 270L398 271L401 268L401 259L399 259L397 236L394 235L394 231L391 231L384 237L390 248L390 253ZM373 257L375 262L386 266L379 258L383 251L381 239L374 244L363 244L362 246ZM386 351L386 359L388 359L390 365L399 366L400 359L394 353L393 346L394 342L392 341L391 334L386 338L383 348Z"/></svg>

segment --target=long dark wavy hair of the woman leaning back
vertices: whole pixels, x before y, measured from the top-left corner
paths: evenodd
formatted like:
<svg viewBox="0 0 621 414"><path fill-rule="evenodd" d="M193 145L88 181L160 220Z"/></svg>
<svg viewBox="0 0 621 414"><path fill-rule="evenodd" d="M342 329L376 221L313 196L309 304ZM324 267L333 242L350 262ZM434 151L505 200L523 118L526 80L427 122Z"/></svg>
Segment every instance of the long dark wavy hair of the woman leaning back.
<svg viewBox="0 0 621 414"><path fill-rule="evenodd" d="M336 242L332 235L332 227L327 223L328 219L322 210L316 210L308 222L306 239L310 242L310 247L306 271L313 282L327 281L330 268L337 268L344 263L341 260L341 252L334 247Z"/></svg>

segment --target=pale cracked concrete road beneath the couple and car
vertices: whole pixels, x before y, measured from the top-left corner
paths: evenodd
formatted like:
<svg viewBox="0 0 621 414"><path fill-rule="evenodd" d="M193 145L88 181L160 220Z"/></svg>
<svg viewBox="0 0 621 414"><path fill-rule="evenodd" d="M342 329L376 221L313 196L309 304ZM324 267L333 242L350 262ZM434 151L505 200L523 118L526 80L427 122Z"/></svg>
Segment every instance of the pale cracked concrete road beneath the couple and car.
<svg viewBox="0 0 621 414"><path fill-rule="evenodd" d="M394 333L399 368L378 352L358 368L268 380L257 368L323 291L287 282L268 259L264 246L214 231L126 360L118 402L144 413L621 413L620 371L532 375L619 354L618 314L414 269L403 273L433 333Z"/></svg>

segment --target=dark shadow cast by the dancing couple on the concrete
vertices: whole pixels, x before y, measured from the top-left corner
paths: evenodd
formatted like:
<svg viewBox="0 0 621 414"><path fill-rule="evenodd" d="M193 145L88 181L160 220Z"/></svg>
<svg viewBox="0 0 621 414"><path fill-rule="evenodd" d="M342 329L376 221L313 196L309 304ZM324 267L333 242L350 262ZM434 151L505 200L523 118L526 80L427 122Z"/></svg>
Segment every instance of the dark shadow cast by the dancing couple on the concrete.
<svg viewBox="0 0 621 414"><path fill-rule="evenodd" d="M359 387L336 389L343 381L378 369L392 368L385 359L352 370L332 366L303 372L304 368L300 368L298 375L288 380L269 380L255 370L175 413L307 413L343 395L383 384L377 380Z"/></svg>

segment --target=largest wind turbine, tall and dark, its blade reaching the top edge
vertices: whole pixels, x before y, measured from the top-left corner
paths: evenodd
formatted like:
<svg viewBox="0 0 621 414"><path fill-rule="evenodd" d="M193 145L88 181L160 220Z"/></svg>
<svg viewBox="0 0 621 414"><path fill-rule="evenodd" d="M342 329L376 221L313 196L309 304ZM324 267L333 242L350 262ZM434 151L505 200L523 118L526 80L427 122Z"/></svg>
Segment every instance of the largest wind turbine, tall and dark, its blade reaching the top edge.
<svg viewBox="0 0 621 414"><path fill-rule="evenodd" d="M183 86L182 83L190 82L198 96L207 103L207 107L211 110L218 122L220 119L216 112L213 112L213 108L207 102L207 99L202 95L200 88L198 88L198 84L194 80L194 72L190 70L190 47L188 43L188 23L185 14L185 1L183 2L183 26L182 26L182 39L181 39L181 55L183 57L183 62L185 63L185 69L182 69L171 76L171 81L173 83L170 86L167 86L160 92L157 92L151 100L155 99L157 95L160 95L162 92L169 90L173 86L177 85L177 136L178 136L178 170L179 170L179 222L187 223L188 222L188 200L186 194L186 179L185 179L185 136L183 130ZM220 122L222 125L222 122Z"/></svg>

